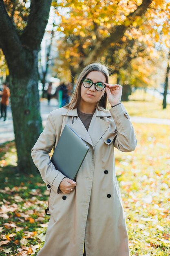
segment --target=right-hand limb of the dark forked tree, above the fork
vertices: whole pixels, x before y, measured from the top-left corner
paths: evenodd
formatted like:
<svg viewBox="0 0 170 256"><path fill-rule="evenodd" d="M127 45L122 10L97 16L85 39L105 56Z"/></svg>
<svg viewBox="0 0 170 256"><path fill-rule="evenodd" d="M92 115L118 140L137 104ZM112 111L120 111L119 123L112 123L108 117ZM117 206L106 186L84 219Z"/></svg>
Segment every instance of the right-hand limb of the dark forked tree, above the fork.
<svg viewBox="0 0 170 256"><path fill-rule="evenodd" d="M22 45L39 50L49 18L51 0L31 0L28 23L21 35Z"/></svg>

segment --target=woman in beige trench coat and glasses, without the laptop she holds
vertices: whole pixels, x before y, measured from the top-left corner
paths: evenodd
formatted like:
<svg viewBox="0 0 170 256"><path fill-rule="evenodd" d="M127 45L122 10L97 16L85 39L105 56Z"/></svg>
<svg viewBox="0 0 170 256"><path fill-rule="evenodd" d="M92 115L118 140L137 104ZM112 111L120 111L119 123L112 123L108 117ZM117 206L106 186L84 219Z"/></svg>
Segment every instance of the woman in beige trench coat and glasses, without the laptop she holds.
<svg viewBox="0 0 170 256"><path fill-rule="evenodd" d="M121 101L121 85L108 83L100 63L84 68L71 102L52 111L32 149L48 190L51 218L38 256L129 256L128 235L115 174L114 146L136 147L132 124ZM107 99L111 104L106 110ZM89 146L76 183L55 170L49 153L68 124ZM85 254L86 253L86 254Z"/></svg>

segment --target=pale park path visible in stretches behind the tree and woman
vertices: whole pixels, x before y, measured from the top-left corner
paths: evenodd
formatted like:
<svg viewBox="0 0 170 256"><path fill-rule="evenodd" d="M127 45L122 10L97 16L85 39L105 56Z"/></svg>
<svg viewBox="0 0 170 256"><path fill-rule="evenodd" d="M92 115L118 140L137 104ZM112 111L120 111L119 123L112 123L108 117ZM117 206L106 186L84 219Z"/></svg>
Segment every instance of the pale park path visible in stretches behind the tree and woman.
<svg viewBox="0 0 170 256"><path fill-rule="evenodd" d="M40 113L42 117L43 126L46 124L46 119L49 113L57 108L57 100L51 99L50 105L48 106L47 101L43 100L40 102ZM161 119L161 118L148 118L148 117L130 117L132 123L141 123L141 124L164 124L170 126L170 119ZM0 144L11 141L14 139L13 133L13 120L11 114L11 108L8 106L7 109L7 120L0 120Z"/></svg>

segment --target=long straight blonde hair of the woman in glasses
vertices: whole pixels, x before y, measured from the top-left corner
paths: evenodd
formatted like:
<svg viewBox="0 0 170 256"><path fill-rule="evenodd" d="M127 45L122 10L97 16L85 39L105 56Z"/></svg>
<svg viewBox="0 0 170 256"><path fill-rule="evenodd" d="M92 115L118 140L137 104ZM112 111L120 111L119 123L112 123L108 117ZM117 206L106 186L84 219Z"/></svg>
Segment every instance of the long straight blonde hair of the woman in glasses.
<svg viewBox="0 0 170 256"><path fill-rule="evenodd" d="M106 77L106 83L108 83L108 78L109 78L109 72L108 68L101 64L101 63L91 63L88 66L86 66L82 72L79 74L77 83L76 83L76 88L75 91L73 92L73 95L71 97L70 103L68 103L64 108L68 108L68 110L71 110L73 108L77 108L79 101L81 99L81 85L82 85L82 79L84 79L88 73L91 71L99 71L104 74ZM107 105L107 94L106 92L104 93L104 96L96 103L96 108L99 110L101 107L106 109Z"/></svg>

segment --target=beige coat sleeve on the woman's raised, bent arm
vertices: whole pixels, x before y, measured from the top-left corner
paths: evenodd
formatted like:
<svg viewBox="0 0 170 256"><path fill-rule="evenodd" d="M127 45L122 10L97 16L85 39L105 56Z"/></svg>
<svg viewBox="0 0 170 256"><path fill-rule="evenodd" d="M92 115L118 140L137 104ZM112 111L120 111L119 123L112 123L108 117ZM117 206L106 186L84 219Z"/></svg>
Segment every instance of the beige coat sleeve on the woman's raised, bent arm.
<svg viewBox="0 0 170 256"><path fill-rule="evenodd" d="M137 140L135 137L135 132L130 122L130 117L126 112L123 104L119 104L110 110L116 129L117 135L114 139L114 146L123 152L130 152L135 150L137 145Z"/></svg>

